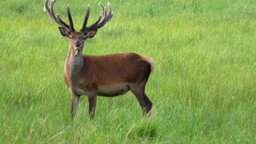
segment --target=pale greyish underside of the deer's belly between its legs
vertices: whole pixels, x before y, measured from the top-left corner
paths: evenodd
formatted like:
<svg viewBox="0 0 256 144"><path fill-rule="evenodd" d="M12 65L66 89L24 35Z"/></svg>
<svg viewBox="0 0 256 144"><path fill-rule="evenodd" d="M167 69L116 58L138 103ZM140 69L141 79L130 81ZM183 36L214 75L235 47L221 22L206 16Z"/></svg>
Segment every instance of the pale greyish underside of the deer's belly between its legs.
<svg viewBox="0 0 256 144"><path fill-rule="evenodd" d="M115 97L118 95L123 95L130 90L130 87L127 85L116 86L116 87L104 87L101 86L98 90L98 94L104 97Z"/></svg>

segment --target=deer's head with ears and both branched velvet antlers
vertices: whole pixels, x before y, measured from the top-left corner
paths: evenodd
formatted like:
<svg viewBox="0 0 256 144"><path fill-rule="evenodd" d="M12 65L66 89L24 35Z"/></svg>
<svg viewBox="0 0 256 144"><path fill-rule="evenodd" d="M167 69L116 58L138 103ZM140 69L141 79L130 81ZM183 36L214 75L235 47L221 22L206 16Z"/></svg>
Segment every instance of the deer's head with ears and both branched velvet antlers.
<svg viewBox="0 0 256 144"><path fill-rule="evenodd" d="M101 15L103 15L103 20L101 21L101 15L100 15L98 17L98 20L95 23L93 23L90 26L86 26L89 19L89 15L90 15L90 5L88 5L83 27L82 29L80 29L80 31L75 31L72 16L69 10L70 9L69 5L67 5L67 15L68 15L68 21L69 21L69 25L68 25L66 22L64 22L60 18L59 14L57 14L57 16L55 15L54 4L56 3L56 1L57 0L52 0L49 8L48 7L49 0L46 0L44 3L44 11L49 14L51 19L53 19L57 24L61 26L59 27L60 33L64 37L67 37L69 39L69 47L76 53L82 52L85 40L93 38L94 35L97 33L97 29L103 27L110 19L112 19L114 15L110 3L108 3L109 12L107 13L107 8L104 7L104 5L100 2L99 4L101 6L101 10L102 10Z"/></svg>

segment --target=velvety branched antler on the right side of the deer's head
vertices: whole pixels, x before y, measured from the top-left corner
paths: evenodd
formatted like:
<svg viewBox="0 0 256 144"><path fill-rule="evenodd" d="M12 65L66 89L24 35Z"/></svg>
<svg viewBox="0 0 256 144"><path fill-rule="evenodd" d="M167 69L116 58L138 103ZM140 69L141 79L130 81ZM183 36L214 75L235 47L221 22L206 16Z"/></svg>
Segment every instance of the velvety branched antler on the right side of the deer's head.
<svg viewBox="0 0 256 144"><path fill-rule="evenodd" d="M88 33L91 30L101 28L110 19L112 19L113 15L114 15L114 12L112 11L111 4L108 2L108 9L109 9L108 14L107 14L107 8L104 7L104 5L101 2L99 4L100 4L101 9L102 9L101 14L103 15L103 20L101 21L101 15L100 15L100 16L98 16L98 20L95 23L86 27L86 24L87 24L87 21L88 21L88 18L89 18L89 14L90 14L90 5L88 5L87 12L86 12L86 15L85 15L85 18L84 18L83 28L80 29L81 32Z"/></svg>

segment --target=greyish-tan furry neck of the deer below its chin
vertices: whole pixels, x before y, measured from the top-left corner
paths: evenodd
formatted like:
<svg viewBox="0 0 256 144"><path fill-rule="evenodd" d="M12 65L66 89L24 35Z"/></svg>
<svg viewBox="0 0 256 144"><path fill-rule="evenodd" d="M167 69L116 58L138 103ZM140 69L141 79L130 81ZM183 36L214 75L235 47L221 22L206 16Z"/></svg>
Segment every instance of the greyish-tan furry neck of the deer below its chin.
<svg viewBox="0 0 256 144"><path fill-rule="evenodd" d="M65 74L69 80L75 82L78 79L79 73L83 68L82 50L74 50L69 46L68 57L65 63Z"/></svg>

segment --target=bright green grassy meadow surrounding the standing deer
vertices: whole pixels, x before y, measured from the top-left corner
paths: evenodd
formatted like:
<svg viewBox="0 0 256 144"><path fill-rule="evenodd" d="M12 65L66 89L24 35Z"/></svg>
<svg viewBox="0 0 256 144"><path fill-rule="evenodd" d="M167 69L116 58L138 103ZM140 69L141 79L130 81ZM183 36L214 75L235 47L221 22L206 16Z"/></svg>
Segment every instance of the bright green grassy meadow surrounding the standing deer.
<svg viewBox="0 0 256 144"><path fill-rule="evenodd" d="M82 27L100 13L99 1L62 0L55 13ZM44 0L0 5L0 143L255 143L256 3L131 0L110 2L114 17L84 53L137 52L152 57L146 93L152 116L135 96L98 97L90 121L88 99L70 119L63 81L68 39L44 13Z"/></svg>

